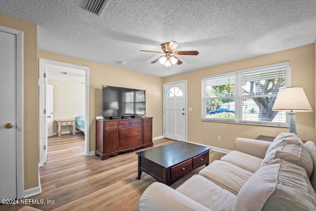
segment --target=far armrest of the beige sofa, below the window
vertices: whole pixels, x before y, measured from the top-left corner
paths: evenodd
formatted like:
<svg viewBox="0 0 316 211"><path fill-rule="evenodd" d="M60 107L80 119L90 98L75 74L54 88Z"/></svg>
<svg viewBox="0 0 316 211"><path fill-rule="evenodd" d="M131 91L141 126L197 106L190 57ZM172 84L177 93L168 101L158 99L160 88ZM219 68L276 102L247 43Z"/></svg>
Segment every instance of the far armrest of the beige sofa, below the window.
<svg viewBox="0 0 316 211"><path fill-rule="evenodd" d="M236 138L235 150L264 159L271 143L250 138Z"/></svg>

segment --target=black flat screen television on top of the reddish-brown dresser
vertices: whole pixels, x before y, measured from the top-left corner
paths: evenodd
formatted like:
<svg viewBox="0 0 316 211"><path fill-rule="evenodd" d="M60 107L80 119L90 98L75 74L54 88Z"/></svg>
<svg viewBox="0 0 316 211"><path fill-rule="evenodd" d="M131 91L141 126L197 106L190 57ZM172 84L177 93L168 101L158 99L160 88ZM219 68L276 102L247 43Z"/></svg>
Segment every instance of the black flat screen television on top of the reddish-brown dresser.
<svg viewBox="0 0 316 211"><path fill-rule="evenodd" d="M104 118L141 117L146 114L146 90L103 85Z"/></svg>

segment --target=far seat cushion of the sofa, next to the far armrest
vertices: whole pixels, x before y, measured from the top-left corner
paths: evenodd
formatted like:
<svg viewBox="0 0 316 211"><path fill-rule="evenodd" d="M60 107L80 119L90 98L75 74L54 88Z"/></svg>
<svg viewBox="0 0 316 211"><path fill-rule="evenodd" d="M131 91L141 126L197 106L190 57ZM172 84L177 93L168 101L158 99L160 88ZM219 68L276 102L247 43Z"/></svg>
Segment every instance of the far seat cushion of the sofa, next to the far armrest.
<svg viewBox="0 0 316 211"><path fill-rule="evenodd" d="M246 169L251 172L256 172L260 168L263 159L257 158L252 155L248 155L239 151L231 151L227 155L221 158L221 161L225 161L234 164L237 167Z"/></svg>

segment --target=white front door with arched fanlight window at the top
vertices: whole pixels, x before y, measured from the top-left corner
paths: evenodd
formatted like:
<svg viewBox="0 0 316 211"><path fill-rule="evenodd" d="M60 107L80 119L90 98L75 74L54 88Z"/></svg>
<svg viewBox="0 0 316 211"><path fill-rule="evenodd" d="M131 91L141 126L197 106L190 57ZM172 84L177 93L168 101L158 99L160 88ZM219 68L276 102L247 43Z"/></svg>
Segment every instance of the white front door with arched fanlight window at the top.
<svg viewBox="0 0 316 211"><path fill-rule="evenodd" d="M163 85L165 138L186 141L186 82Z"/></svg>

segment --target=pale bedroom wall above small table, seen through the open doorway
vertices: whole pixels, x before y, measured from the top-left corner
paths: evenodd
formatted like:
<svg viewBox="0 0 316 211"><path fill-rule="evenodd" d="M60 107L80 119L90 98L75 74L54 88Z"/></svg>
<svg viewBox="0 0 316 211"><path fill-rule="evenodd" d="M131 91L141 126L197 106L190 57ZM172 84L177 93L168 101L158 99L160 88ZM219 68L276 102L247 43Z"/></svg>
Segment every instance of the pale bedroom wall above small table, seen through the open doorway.
<svg viewBox="0 0 316 211"><path fill-rule="evenodd" d="M49 77L49 72L47 73ZM76 119L85 113L85 84L47 80L53 85L53 132L56 121ZM61 127L61 132L70 132L70 126Z"/></svg>

